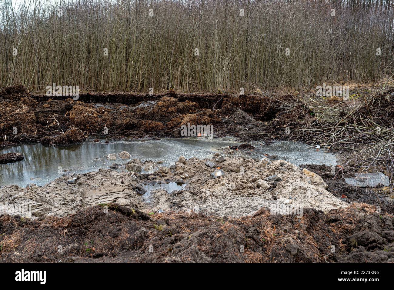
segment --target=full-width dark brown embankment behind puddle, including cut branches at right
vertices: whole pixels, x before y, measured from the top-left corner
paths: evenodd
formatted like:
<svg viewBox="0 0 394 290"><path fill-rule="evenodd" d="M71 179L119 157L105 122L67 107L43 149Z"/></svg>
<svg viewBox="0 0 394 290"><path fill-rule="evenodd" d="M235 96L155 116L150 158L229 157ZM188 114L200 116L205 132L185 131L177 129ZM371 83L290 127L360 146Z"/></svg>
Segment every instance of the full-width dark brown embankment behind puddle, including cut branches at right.
<svg viewBox="0 0 394 290"><path fill-rule="evenodd" d="M3 139L7 136L2 145L36 141L59 145L100 137L180 137L180 126L190 123L214 125L216 136L245 141L298 139L321 144L325 150L349 149L391 138L393 98L394 88L388 85L376 92L351 92L348 100L316 97L313 91L254 95L81 92L73 100L29 93L16 86L0 90L0 132Z"/></svg>

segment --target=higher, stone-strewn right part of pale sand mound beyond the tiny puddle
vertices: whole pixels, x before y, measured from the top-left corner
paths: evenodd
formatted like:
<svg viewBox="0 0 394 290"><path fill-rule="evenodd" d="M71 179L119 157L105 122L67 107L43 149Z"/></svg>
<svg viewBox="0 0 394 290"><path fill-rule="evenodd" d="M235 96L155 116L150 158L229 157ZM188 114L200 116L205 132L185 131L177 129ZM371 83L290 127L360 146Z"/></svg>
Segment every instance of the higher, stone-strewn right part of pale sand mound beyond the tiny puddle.
<svg viewBox="0 0 394 290"><path fill-rule="evenodd" d="M215 162L214 159L211 161ZM327 185L320 176L283 160L264 165L253 159L228 158L215 162L225 173L218 178L210 176L215 168L205 162L192 158L186 164L177 163L176 169L168 173L162 170L159 180L163 182L189 176L184 179L185 190L168 195L171 208L187 211L197 206L200 212L207 214L240 217L253 214L261 207L273 212L302 208L327 212L347 206L326 190ZM155 201L153 197L152 200L155 210L166 205L161 199Z"/></svg>

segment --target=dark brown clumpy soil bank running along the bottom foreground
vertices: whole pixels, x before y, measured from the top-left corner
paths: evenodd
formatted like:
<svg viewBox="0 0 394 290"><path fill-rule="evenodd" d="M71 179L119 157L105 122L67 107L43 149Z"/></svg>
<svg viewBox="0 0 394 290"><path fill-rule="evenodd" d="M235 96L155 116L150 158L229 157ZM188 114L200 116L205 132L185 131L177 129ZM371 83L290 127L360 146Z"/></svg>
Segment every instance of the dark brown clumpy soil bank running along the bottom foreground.
<svg viewBox="0 0 394 290"><path fill-rule="evenodd" d="M2 262L394 262L393 216L367 204L221 218L105 204L67 217L0 216ZM335 247L335 251L332 249Z"/></svg>

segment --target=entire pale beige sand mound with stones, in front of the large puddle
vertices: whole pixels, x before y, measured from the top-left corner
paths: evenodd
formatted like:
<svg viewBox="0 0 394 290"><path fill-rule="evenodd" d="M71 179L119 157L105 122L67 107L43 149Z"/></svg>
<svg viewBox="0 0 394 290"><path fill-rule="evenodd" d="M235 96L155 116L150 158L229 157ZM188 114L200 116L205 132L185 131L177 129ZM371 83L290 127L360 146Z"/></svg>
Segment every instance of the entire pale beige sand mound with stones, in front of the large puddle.
<svg viewBox="0 0 394 290"><path fill-rule="evenodd" d="M273 214L302 216L303 208L327 212L347 206L326 190L321 177L286 161L264 165L252 159L228 158L220 164L216 162L224 172L218 178L211 177L216 168L206 166L206 161L192 158L185 163L177 162L175 169L160 167L152 174L134 173L134 176L130 172L100 169L63 176L43 187L3 186L0 199L15 204L16 208L31 204L36 217L65 216L87 206L113 202L145 212L198 211L232 217L251 215L262 207L270 208ZM182 179L186 182L184 190L172 193L153 190L149 203L141 196L145 193L143 184L182 182Z"/></svg>

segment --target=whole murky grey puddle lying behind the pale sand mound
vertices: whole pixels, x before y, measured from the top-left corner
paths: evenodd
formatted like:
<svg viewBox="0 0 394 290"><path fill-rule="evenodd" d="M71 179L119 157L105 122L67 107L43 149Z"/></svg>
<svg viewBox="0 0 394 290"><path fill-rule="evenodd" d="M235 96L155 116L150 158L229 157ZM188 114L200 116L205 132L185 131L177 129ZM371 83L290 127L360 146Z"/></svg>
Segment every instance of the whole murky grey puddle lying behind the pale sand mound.
<svg viewBox="0 0 394 290"><path fill-rule="evenodd" d="M210 158L217 152L215 148L239 145L234 138L182 138L150 141L116 141L114 143L82 143L67 147L44 146L41 144L19 145L0 150L0 154L8 152L20 152L24 160L9 164L0 164L0 186L17 184L25 187L35 183L45 185L61 176L62 170L75 173L87 173L97 171L100 168L108 168L111 164L125 164L132 159L141 161L163 161L161 166L169 167L171 162L178 160L183 155L186 159L197 157L199 159ZM264 154L276 154L279 159L284 159L294 164L336 164L333 154L316 152L303 143L290 141L277 141L271 145L260 145L253 142L253 146L259 150L253 150L248 158L264 157ZM118 154L128 151L130 159L107 160L110 153ZM237 154L239 154L237 152ZM97 160L96 160L97 159ZM124 170L120 167L117 170ZM144 173L144 171L143 171Z"/></svg>

